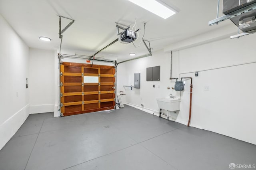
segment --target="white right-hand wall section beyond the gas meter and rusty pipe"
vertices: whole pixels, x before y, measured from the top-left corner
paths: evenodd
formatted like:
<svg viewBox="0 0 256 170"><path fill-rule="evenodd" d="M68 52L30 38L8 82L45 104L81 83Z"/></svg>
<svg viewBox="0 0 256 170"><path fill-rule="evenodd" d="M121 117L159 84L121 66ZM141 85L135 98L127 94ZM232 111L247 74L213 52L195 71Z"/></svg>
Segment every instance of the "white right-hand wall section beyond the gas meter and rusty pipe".
<svg viewBox="0 0 256 170"><path fill-rule="evenodd" d="M191 126L256 144L253 122L256 119L256 89L253 88L256 84L255 38L256 35L252 34L174 53L178 60L178 73L181 73L179 76L193 77ZM194 71L200 71L198 77L194 77ZM209 91L203 90L204 86L208 86ZM176 120L179 122L188 119L189 81L182 92L182 99Z"/></svg>

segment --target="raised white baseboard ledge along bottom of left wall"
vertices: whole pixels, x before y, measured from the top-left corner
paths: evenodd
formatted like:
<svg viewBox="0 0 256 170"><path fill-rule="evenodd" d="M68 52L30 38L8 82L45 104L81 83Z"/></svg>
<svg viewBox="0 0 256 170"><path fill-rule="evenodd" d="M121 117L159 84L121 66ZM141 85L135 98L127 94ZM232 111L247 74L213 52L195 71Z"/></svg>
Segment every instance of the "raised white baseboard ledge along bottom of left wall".
<svg viewBox="0 0 256 170"><path fill-rule="evenodd" d="M29 104L20 109L2 125L0 125L0 150L12 138L12 136L19 130L21 125L26 121L29 115Z"/></svg>

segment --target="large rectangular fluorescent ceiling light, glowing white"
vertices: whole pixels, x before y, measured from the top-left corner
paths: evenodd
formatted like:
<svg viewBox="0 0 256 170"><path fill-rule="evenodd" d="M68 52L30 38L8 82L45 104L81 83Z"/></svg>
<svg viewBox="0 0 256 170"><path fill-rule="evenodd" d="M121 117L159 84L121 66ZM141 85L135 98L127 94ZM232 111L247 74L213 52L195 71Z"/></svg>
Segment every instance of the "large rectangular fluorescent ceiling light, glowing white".
<svg viewBox="0 0 256 170"><path fill-rule="evenodd" d="M129 0L164 19L176 14L176 11L161 0Z"/></svg>

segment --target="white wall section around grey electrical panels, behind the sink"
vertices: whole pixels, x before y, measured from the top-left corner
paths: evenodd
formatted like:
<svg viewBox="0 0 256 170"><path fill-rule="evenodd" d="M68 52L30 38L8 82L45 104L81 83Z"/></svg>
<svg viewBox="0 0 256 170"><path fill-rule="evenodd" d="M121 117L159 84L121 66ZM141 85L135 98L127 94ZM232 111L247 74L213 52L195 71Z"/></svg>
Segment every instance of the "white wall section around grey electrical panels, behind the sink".
<svg viewBox="0 0 256 170"><path fill-rule="evenodd" d="M160 81L146 81L146 68L160 65ZM134 86L134 73L140 73L140 89L123 87ZM170 93L176 95L172 89L173 83L170 78L170 54L163 50L156 51L150 57L121 63L117 67L117 92L126 93L126 104L135 105L150 113L158 112L156 98L168 96ZM152 86L155 85L155 88ZM178 93L179 94L179 93Z"/></svg>

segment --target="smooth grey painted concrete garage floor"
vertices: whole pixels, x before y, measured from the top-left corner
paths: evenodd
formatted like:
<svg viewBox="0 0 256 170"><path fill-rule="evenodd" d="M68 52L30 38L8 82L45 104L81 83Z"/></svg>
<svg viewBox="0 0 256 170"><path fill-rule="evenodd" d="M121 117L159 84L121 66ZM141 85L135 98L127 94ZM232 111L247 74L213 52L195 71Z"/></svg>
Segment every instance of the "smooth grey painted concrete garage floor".
<svg viewBox="0 0 256 170"><path fill-rule="evenodd" d="M0 150L0 170L229 170L256 164L256 145L124 109L29 115Z"/></svg>

